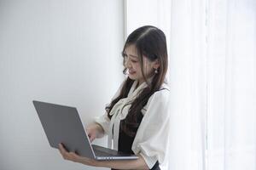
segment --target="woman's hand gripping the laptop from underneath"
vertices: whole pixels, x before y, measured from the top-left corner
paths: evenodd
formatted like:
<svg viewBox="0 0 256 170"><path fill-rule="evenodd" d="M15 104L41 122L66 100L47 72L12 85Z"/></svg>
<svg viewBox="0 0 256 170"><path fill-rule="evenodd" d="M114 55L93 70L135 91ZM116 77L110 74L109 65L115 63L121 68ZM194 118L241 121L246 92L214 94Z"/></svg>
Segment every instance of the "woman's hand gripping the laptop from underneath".
<svg viewBox="0 0 256 170"><path fill-rule="evenodd" d="M65 160L75 161L75 162L79 162L79 163L83 163L85 165L95 166L95 167L97 167L99 165L99 161L96 161L94 159L90 159L87 157L79 156L74 152L68 152L62 144L59 144L59 150L61 152L61 156Z"/></svg>

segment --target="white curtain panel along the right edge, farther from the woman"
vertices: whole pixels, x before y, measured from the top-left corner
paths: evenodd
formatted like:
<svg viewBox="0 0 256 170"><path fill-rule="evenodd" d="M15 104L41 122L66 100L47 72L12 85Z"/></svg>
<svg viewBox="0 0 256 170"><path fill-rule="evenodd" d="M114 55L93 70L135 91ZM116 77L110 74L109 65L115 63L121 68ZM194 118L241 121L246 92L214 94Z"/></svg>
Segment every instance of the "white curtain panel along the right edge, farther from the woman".
<svg viewBox="0 0 256 170"><path fill-rule="evenodd" d="M256 169L256 1L209 1L207 169Z"/></svg>

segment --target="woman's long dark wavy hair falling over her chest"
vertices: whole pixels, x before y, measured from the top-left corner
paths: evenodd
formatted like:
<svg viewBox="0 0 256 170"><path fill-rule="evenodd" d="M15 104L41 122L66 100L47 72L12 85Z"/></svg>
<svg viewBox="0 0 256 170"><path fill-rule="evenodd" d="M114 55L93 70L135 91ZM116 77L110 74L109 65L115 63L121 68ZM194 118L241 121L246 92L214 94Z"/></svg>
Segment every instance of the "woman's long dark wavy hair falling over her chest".
<svg viewBox="0 0 256 170"><path fill-rule="evenodd" d="M148 99L154 92L160 90L161 85L165 81L166 71L168 67L168 55L167 55L167 48L166 48L166 36L163 31L158 29L154 26L143 26L137 28L137 30L131 32L129 37L125 42L125 46L123 48L123 57L125 48L130 45L135 45L137 48L138 57L140 60L142 72L143 72L143 56L148 58L150 61L154 61L158 59L159 61L159 68L158 73L154 74L154 77L151 82L148 82L147 78L143 72L144 81L147 82L148 87L143 88L143 91L131 102L131 107L128 112L128 115L125 118L125 123L121 123L121 129L129 136L134 137L136 132L134 129L137 129L139 126L139 114L143 107L148 103ZM125 66L125 58L123 60L123 64ZM127 68L124 69L124 73L126 72ZM111 119L109 115L110 111L113 108L119 99L126 98L130 89L131 85L134 80L127 77L126 81L124 82L123 87L121 88L121 92L116 99L113 99L111 104L108 105L105 109L108 112L108 117Z"/></svg>

